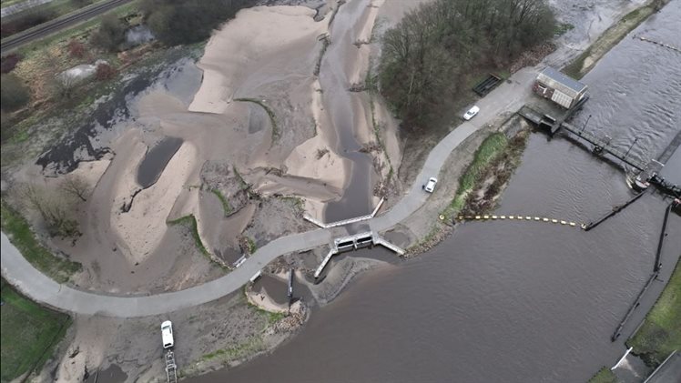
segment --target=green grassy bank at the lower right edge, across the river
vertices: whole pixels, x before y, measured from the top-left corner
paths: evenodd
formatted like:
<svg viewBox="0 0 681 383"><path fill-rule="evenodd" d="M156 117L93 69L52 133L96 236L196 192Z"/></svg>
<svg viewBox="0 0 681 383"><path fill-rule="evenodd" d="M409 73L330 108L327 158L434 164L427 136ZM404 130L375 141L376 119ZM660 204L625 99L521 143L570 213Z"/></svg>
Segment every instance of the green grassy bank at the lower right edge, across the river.
<svg viewBox="0 0 681 383"><path fill-rule="evenodd" d="M626 341L645 364L656 368L672 351L681 350L681 261L641 328Z"/></svg>

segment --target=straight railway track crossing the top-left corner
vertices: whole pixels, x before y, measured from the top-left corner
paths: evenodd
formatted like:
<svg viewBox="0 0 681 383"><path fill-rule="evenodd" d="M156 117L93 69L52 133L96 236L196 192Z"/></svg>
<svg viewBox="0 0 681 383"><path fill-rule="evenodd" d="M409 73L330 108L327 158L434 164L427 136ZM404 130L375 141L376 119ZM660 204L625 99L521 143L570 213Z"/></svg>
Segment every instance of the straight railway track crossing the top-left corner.
<svg viewBox="0 0 681 383"><path fill-rule="evenodd" d="M65 15L55 20L50 20L44 24L36 25L31 29L24 32L20 32L16 35L11 35L3 39L0 43L0 52L4 55L5 53L36 40L40 37L45 37L46 35L51 35L59 30L62 30L70 25L75 25L76 23L86 21L96 15L101 15L111 9L116 8L119 5L124 5L132 0L107 0L95 5L90 5L82 8L72 14Z"/></svg>

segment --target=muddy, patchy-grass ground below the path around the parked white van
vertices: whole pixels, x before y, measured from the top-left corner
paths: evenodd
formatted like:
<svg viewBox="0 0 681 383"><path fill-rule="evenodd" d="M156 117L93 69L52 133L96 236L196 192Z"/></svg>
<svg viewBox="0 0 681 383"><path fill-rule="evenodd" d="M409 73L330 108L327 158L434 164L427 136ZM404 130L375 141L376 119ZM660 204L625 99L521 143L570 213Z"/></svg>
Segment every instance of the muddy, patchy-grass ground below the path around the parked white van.
<svg viewBox="0 0 681 383"><path fill-rule="evenodd" d="M290 314L272 314L249 304L243 291L168 315L127 319L76 315L56 348L56 358L31 378L93 382L98 375L105 382L165 381L158 329L164 320L173 322L179 378L194 377L238 366L276 348L307 315L307 307L300 303Z"/></svg>

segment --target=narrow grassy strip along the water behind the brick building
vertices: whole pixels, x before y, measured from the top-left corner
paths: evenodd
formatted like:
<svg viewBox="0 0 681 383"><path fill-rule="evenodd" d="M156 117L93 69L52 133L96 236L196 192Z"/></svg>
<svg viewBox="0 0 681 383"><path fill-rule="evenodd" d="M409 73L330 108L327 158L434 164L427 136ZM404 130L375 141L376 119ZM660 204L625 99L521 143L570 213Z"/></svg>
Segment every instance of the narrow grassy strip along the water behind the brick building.
<svg viewBox="0 0 681 383"><path fill-rule="evenodd" d="M582 78L610 49L622 41L625 35L643 23L648 16L662 9L667 3L669 3L669 0L651 0L646 5L628 13L615 25L609 27L603 35L600 35L595 43L581 55L578 55L572 63L565 66L563 72L577 79Z"/></svg>

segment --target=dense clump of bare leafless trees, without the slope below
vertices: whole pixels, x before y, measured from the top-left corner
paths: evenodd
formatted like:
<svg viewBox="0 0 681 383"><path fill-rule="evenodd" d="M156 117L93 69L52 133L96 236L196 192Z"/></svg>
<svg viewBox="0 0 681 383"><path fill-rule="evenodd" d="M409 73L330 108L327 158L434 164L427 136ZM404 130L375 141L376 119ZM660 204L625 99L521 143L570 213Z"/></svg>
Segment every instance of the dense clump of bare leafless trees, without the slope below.
<svg viewBox="0 0 681 383"><path fill-rule="evenodd" d="M379 87L417 127L476 67L500 67L554 35L545 0L435 0L405 15L382 42Z"/></svg>

